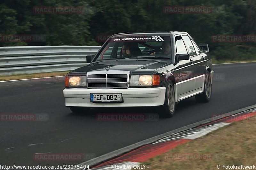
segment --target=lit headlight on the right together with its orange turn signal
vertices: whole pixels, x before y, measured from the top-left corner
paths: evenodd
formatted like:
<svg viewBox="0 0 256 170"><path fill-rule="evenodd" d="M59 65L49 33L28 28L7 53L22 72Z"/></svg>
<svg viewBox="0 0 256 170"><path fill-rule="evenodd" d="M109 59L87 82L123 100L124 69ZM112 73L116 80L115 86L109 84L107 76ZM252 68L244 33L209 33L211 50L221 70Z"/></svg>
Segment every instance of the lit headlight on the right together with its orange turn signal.
<svg viewBox="0 0 256 170"><path fill-rule="evenodd" d="M159 84L159 75L132 75L130 80L130 86L150 86Z"/></svg>

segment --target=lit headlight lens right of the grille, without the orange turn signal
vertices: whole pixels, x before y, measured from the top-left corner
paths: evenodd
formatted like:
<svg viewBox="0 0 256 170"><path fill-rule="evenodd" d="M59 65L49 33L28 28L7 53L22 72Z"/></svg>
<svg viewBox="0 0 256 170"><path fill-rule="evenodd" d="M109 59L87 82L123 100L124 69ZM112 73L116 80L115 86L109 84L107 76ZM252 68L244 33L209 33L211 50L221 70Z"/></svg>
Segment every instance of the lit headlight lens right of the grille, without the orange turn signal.
<svg viewBox="0 0 256 170"><path fill-rule="evenodd" d="M132 75L130 86L153 85L153 75Z"/></svg>

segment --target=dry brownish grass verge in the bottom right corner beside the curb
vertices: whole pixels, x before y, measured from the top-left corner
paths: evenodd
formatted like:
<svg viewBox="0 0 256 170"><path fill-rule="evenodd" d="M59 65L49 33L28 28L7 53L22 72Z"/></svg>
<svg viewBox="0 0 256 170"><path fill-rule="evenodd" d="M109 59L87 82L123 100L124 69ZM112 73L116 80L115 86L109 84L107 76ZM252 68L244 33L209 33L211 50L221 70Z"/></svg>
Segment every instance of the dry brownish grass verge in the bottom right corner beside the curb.
<svg viewBox="0 0 256 170"><path fill-rule="evenodd" d="M223 169L223 165L255 165L255 120L256 117L251 117L240 122L233 122L204 137L148 159L141 165L162 170L217 169L217 165Z"/></svg>

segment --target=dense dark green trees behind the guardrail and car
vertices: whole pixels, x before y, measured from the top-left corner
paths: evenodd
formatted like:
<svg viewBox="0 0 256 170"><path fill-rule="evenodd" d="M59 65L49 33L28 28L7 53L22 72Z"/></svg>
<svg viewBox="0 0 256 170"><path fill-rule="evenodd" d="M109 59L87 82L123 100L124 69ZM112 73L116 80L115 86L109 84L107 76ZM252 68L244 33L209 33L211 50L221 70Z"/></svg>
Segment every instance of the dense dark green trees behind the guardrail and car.
<svg viewBox="0 0 256 170"><path fill-rule="evenodd" d="M76 14L40 14L35 6L82 6ZM211 13L164 13L164 6L212 6ZM0 41L0 46L102 45L99 34L187 31L208 43L216 59L251 60L254 42L214 42L213 35L256 34L255 0L1 0L0 35L44 34L45 41Z"/></svg>

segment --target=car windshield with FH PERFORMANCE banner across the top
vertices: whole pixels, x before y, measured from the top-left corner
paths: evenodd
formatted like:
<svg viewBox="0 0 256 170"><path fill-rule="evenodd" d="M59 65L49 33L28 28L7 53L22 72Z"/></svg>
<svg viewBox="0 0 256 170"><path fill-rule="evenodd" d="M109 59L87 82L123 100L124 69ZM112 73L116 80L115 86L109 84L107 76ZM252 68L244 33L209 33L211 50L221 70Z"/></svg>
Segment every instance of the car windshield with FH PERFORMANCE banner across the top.
<svg viewBox="0 0 256 170"><path fill-rule="evenodd" d="M136 37L113 37L94 61L134 58L171 60L170 36L136 35Z"/></svg>

